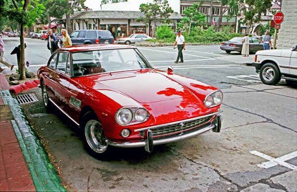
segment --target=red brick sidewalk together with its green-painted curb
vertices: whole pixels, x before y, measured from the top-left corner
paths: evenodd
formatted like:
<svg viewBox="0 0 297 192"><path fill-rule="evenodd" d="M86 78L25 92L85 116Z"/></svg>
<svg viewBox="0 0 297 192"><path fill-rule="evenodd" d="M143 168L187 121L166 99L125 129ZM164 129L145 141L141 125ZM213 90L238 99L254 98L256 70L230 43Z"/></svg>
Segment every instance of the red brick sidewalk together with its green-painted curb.
<svg viewBox="0 0 297 192"><path fill-rule="evenodd" d="M0 191L65 192L48 154L0 74Z"/></svg>

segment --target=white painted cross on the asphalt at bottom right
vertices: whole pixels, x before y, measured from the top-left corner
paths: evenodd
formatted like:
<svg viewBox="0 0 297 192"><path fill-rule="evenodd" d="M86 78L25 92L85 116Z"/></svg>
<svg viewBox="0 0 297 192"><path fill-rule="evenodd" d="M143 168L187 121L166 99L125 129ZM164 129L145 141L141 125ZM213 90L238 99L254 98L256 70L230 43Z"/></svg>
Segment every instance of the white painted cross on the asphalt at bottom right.
<svg viewBox="0 0 297 192"><path fill-rule="evenodd" d="M269 161L267 162L264 162L264 163L261 163L261 164L258 164L257 166L258 167L261 167L261 168L270 168L270 167L273 167L273 166L276 166L276 165L282 165L284 167L287 167L289 169L292 169L292 170L297 170L297 166L295 165L292 165L290 163L286 163L285 161L288 161L290 159L293 159L295 157L297 157L297 151L294 151L292 153L289 153L289 154L286 154L286 155L283 155L281 157L278 157L278 158L273 158L271 156L268 156L268 155L265 155L263 153L260 153L258 151L249 151L251 154L254 154L254 155L257 155L259 157L262 157L264 159L267 159Z"/></svg>

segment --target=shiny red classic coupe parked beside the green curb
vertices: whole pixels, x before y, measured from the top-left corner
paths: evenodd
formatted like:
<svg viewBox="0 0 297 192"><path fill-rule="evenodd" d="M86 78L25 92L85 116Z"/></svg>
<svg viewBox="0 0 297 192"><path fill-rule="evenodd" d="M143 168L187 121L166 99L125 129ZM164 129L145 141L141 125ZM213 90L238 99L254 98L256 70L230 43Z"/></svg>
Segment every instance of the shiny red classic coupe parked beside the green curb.
<svg viewBox="0 0 297 192"><path fill-rule="evenodd" d="M221 129L220 90L171 67L154 69L135 47L60 48L37 73L44 104L83 129L87 150L98 158L108 145L152 151Z"/></svg>

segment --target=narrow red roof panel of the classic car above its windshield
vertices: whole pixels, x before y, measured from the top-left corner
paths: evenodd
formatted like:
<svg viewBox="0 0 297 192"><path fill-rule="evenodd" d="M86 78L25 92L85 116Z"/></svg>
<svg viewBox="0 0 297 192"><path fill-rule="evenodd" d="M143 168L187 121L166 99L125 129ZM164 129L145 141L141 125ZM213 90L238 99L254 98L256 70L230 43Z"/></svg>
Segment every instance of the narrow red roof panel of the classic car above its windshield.
<svg viewBox="0 0 297 192"><path fill-rule="evenodd" d="M125 45L116 45L116 44L92 44L92 45L79 45L72 47L64 47L59 50L64 50L68 52L76 52L76 51L87 51L87 50L97 50L97 49L116 49L116 48L134 48L132 46Z"/></svg>

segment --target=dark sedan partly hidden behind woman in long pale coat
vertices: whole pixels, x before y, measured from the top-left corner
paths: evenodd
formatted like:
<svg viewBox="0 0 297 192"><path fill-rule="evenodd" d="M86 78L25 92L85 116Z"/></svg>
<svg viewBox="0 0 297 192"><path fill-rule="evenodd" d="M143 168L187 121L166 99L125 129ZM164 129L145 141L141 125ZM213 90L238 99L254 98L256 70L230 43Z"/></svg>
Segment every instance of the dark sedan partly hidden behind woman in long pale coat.
<svg viewBox="0 0 297 192"><path fill-rule="evenodd" d="M221 49L225 50L227 53L231 51L238 51L241 52L243 48L243 41L244 37L235 37L227 42L222 42ZM263 43L255 38L249 37L249 52L256 52L258 50L263 50Z"/></svg>

